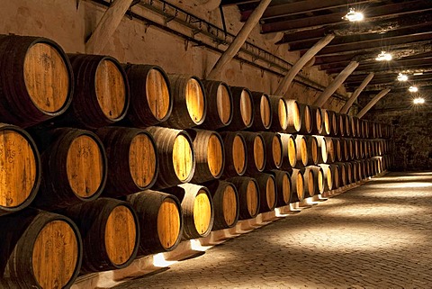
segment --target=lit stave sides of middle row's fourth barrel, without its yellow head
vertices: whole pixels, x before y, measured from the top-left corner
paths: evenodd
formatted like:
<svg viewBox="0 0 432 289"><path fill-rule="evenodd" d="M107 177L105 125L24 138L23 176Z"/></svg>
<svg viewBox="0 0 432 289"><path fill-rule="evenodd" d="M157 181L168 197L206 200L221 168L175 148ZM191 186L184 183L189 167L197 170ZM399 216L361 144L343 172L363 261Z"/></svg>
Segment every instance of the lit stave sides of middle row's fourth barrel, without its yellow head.
<svg viewBox="0 0 432 289"><path fill-rule="evenodd" d="M166 187L180 185L189 182L193 177L195 170L195 153L193 149L193 141L186 131L167 129L162 127L148 127L145 131L148 131L157 145L157 159L159 163L159 174L157 174L157 180L152 186L153 189L163 189ZM184 180L180 180L175 174L174 164L172 162L173 157L173 146L177 136L182 135L188 140L193 156L193 166L191 168L190 175ZM160 146L159 146L160 144ZM162 146L162 144L164 146Z"/></svg>

